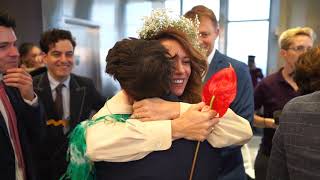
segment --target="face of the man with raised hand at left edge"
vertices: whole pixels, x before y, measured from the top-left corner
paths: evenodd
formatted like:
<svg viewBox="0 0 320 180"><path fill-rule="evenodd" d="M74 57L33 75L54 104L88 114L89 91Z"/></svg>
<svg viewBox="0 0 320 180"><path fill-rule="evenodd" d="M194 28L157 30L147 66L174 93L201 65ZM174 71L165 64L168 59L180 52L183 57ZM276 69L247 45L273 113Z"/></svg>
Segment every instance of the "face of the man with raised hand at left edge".
<svg viewBox="0 0 320 180"><path fill-rule="evenodd" d="M0 72L19 65L19 52L16 47L16 35L12 28L0 26Z"/></svg>

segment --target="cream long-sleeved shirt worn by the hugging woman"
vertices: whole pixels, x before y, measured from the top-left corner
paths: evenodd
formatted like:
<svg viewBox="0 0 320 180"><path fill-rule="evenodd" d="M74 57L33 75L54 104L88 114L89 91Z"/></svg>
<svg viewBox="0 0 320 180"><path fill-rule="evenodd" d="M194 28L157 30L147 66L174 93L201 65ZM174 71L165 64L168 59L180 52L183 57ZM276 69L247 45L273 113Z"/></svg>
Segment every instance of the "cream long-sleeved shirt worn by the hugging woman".
<svg viewBox="0 0 320 180"><path fill-rule="evenodd" d="M182 114L191 104L180 103ZM123 91L117 93L102 107L93 119L108 114L131 114L132 105ZM244 144L252 137L250 124L231 109L220 118L207 140L213 147ZM171 120L141 122L128 119L123 122L98 122L86 131L87 156L92 161L128 162L139 160L153 151L171 147Z"/></svg>

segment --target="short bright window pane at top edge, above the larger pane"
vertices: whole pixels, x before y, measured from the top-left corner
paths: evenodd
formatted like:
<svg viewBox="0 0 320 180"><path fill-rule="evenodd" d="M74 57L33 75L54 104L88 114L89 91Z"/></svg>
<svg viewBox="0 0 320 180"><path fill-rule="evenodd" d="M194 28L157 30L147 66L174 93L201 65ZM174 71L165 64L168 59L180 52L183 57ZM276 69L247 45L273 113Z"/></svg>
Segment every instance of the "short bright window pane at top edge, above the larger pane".
<svg viewBox="0 0 320 180"><path fill-rule="evenodd" d="M229 21L269 19L270 0L229 0Z"/></svg>

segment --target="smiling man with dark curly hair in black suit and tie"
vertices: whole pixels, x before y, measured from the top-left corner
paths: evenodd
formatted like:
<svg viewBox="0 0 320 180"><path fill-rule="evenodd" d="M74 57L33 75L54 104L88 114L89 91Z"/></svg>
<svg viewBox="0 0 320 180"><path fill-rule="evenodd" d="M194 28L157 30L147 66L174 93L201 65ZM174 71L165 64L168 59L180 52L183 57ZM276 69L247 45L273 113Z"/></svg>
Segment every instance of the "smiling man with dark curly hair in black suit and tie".
<svg viewBox="0 0 320 180"><path fill-rule="evenodd" d="M40 179L56 180L63 175L68 133L105 102L92 80L71 73L75 46L71 32L66 30L46 31L40 39L48 69L47 73L33 77L34 89L45 102L47 115L47 136L35 151Z"/></svg>

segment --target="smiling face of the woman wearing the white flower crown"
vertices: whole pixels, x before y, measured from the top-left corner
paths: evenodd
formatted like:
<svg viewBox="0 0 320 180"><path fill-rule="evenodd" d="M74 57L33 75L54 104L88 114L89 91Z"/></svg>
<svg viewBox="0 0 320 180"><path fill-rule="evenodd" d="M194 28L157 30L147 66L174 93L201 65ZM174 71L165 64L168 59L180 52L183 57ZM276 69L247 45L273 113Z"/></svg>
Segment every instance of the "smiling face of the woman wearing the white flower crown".
<svg viewBox="0 0 320 180"><path fill-rule="evenodd" d="M170 91L176 96L181 96L191 74L190 57L176 40L164 39L161 40L161 44L168 49L170 58L175 61L175 68L171 76Z"/></svg>

